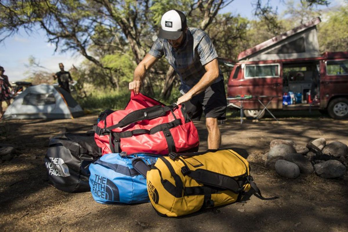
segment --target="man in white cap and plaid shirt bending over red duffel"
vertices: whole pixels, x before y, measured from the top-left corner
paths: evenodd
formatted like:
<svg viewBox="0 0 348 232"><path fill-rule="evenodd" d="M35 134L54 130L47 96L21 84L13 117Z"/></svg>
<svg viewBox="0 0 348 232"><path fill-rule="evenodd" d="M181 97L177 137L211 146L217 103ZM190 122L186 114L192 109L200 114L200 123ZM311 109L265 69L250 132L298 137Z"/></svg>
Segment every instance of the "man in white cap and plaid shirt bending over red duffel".
<svg viewBox="0 0 348 232"><path fill-rule="evenodd" d="M134 71L129 89L139 93L146 72L165 56L180 76L183 104L193 120L206 117L208 149L218 149L221 134L218 121L226 118L226 93L217 54L208 35L197 28L188 28L185 15L179 10L167 11L161 19L158 39Z"/></svg>

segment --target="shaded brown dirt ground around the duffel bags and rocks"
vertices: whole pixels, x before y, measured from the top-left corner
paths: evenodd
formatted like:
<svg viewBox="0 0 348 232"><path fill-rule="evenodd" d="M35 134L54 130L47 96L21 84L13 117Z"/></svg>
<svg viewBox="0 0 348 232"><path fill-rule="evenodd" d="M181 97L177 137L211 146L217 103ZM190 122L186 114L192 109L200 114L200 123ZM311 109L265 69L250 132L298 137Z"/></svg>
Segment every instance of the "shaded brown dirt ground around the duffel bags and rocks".
<svg viewBox="0 0 348 232"><path fill-rule="evenodd" d="M348 231L348 181L302 175L294 180L266 168L263 154L273 139L292 139L306 145L324 137L348 144L348 121L336 121L307 112L301 117L278 115L280 123L238 118L220 125L222 147L248 152L251 174L266 197L249 200L181 218L158 216L150 203L102 205L89 192L64 193L48 181L44 155L49 137L66 127L85 132L97 115L66 120L1 121L0 143L17 147L13 160L0 164L0 231ZM195 123L200 151L207 149L204 122ZM5 133L5 134L4 134Z"/></svg>

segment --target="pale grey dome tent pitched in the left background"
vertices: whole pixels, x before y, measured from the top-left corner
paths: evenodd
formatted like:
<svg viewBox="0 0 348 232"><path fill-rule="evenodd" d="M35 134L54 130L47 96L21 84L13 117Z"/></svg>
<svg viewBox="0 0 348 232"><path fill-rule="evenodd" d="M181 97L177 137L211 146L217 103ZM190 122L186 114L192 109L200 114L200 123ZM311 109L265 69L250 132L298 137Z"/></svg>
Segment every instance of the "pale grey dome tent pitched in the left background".
<svg viewBox="0 0 348 232"><path fill-rule="evenodd" d="M62 88L50 85L28 87L3 114L3 119L62 119L83 115L81 106Z"/></svg>

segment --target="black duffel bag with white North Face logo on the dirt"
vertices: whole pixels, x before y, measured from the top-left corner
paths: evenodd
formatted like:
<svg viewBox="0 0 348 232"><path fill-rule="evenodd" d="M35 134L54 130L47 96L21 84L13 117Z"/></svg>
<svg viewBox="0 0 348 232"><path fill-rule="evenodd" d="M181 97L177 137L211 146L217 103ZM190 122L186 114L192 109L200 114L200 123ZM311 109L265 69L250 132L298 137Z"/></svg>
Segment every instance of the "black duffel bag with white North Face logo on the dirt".
<svg viewBox="0 0 348 232"><path fill-rule="evenodd" d="M45 157L48 179L64 192L88 192L88 165L101 156L92 133L56 136L49 142Z"/></svg>

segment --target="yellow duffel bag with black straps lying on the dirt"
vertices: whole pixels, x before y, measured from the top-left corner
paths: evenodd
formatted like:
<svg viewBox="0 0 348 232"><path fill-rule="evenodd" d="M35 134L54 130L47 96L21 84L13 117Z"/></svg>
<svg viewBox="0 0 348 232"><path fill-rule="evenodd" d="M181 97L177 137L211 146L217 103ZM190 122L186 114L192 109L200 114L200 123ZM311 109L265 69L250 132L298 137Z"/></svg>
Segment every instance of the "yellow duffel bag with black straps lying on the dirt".
<svg viewBox="0 0 348 232"><path fill-rule="evenodd" d="M233 203L253 188L248 161L233 150L170 153L147 166L141 159L134 168L146 175L153 208L159 215L177 217L202 208Z"/></svg>

